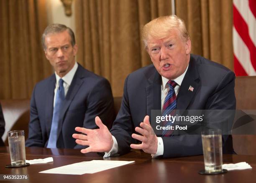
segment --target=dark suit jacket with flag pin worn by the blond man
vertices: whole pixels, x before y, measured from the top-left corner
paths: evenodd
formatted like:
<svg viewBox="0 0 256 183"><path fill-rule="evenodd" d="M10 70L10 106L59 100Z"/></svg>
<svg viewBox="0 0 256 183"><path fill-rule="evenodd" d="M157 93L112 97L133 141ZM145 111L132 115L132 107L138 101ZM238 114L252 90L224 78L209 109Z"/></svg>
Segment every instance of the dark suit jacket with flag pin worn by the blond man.
<svg viewBox="0 0 256 183"><path fill-rule="evenodd" d="M151 110L161 110L161 75L154 65L141 68L125 80L120 111L111 133L118 142L118 153L127 153L135 127ZM193 92L189 86L193 86ZM235 109L235 75L223 65L198 55L190 55L189 67L179 88L177 109ZM164 157L202 154L200 135L162 137ZM233 153L232 140L225 137L223 152ZM231 144L230 144L231 143ZM226 147L225 144L228 144Z"/></svg>

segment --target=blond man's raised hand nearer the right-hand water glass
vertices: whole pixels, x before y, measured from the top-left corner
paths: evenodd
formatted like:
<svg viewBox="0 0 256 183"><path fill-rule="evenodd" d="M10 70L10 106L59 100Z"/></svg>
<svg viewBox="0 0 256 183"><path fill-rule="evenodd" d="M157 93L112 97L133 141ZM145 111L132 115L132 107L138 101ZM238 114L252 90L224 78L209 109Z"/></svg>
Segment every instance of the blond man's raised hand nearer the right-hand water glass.
<svg viewBox="0 0 256 183"><path fill-rule="evenodd" d="M143 122L140 123L140 127L136 127L135 131L141 133L141 135L132 134L132 138L140 140L141 144L131 144L133 149L142 149L145 153L156 154L157 151L157 137L153 128L149 123L149 116L146 115Z"/></svg>

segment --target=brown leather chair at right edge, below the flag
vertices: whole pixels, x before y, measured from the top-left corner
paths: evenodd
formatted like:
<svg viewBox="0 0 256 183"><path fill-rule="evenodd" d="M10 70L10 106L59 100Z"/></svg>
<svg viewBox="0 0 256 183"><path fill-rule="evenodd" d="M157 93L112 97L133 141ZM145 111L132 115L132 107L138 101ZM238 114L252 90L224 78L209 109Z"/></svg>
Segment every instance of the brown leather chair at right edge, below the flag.
<svg viewBox="0 0 256 183"><path fill-rule="evenodd" d="M236 77L236 108L256 110L256 76ZM256 129L256 124L254 125ZM232 135L237 154L256 155L256 135Z"/></svg>

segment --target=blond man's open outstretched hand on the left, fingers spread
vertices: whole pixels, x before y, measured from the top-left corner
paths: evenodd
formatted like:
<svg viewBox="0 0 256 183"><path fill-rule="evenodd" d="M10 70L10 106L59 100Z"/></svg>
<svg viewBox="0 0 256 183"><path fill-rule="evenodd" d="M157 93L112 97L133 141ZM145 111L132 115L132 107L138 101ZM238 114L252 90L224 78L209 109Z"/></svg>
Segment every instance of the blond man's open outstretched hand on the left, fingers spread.
<svg viewBox="0 0 256 183"><path fill-rule="evenodd" d="M100 118L95 118L95 123L99 129L91 130L87 128L76 127L77 132L83 134L74 133L73 138L76 138L76 143L80 145L88 145L88 148L82 149L81 153L89 152L109 152L113 147L113 138L109 132L107 126L105 126ZM84 135L86 134L86 135Z"/></svg>

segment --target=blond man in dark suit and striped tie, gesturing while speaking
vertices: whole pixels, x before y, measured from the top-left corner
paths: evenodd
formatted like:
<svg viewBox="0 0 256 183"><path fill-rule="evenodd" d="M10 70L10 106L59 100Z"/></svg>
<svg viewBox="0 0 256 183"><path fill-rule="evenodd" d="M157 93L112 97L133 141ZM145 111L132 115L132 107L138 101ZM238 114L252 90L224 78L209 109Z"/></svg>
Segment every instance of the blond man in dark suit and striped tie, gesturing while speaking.
<svg viewBox="0 0 256 183"><path fill-rule="evenodd" d="M190 54L191 41L183 20L159 17L143 28L143 41L153 65L128 75L120 111L110 131L95 118L97 130L77 127L76 143L89 145L82 153L105 157L141 149L154 157L202 154L200 135L157 137L149 121L151 110L235 109L235 75L223 65ZM138 143L139 142L139 143ZM223 152L233 153L232 140L223 139Z"/></svg>

